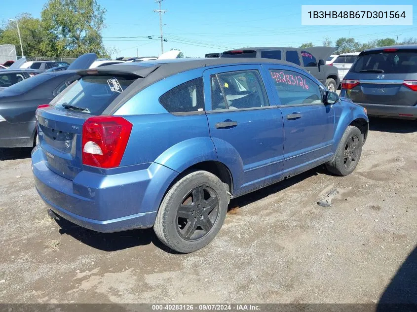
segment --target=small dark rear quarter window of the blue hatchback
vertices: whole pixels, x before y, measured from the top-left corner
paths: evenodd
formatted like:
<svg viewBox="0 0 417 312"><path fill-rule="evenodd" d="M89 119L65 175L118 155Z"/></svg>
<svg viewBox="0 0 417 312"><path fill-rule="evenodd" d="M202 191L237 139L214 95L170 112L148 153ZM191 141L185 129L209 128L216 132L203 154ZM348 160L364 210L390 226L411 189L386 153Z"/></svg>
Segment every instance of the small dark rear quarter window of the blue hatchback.
<svg viewBox="0 0 417 312"><path fill-rule="evenodd" d="M203 111L203 78L187 81L169 90L159 98L159 103L170 113Z"/></svg>

